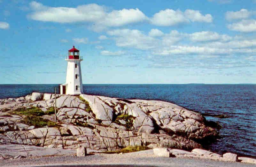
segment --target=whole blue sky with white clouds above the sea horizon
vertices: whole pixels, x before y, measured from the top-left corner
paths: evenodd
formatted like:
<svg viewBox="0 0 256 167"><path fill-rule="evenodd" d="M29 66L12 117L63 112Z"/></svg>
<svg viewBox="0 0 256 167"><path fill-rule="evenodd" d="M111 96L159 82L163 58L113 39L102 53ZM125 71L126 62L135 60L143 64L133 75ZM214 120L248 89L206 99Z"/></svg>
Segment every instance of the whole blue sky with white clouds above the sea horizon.
<svg viewBox="0 0 256 167"><path fill-rule="evenodd" d="M255 0L0 0L0 84L256 83Z"/></svg>

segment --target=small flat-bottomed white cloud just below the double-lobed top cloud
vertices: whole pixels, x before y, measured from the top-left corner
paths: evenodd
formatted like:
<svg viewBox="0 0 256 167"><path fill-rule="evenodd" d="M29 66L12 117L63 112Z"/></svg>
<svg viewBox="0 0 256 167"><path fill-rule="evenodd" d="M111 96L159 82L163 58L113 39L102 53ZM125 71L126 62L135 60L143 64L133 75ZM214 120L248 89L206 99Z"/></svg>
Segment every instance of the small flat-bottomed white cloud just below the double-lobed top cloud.
<svg viewBox="0 0 256 167"><path fill-rule="evenodd" d="M190 40L196 42L216 40L228 41L230 39L231 37L229 37L228 35L220 35L217 32L212 31L201 31L190 34Z"/></svg>

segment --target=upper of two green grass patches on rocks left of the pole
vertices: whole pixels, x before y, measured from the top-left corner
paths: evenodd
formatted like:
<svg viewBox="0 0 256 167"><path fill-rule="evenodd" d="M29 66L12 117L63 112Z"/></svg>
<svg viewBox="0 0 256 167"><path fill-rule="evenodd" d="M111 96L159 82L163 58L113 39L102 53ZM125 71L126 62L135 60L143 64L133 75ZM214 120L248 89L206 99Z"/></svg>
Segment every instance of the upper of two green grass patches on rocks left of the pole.
<svg viewBox="0 0 256 167"><path fill-rule="evenodd" d="M9 114L13 115L27 115L27 116L43 116L45 113L38 107L32 108L17 108L13 111L10 111Z"/></svg>

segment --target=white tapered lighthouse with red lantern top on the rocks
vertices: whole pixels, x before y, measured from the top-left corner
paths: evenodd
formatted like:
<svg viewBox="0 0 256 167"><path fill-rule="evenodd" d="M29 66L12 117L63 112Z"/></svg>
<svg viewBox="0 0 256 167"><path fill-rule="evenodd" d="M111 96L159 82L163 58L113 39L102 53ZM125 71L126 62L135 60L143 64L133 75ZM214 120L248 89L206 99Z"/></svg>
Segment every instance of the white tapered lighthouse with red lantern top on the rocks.
<svg viewBox="0 0 256 167"><path fill-rule="evenodd" d="M79 56L79 50L73 46L68 50L66 83L60 85L60 94L78 95L83 93L82 74L80 62L83 60Z"/></svg>

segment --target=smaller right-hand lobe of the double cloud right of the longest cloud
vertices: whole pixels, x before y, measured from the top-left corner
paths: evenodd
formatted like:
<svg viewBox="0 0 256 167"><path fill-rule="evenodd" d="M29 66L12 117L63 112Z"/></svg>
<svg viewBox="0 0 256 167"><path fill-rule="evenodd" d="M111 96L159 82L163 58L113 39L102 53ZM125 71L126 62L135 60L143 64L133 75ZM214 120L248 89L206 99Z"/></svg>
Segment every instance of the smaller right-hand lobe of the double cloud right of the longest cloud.
<svg viewBox="0 0 256 167"><path fill-rule="evenodd" d="M205 16L200 13L199 10L190 10L187 9L184 12L186 18L189 18L192 22L206 22L212 23L213 17L210 14L206 14Z"/></svg>

